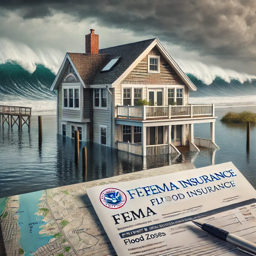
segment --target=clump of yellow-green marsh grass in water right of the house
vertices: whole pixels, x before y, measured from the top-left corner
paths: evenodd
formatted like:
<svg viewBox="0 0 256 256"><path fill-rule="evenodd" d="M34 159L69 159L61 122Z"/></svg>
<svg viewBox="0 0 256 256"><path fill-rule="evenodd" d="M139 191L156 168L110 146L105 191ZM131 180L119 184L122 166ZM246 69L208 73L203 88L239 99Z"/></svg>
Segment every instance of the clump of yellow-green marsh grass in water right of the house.
<svg viewBox="0 0 256 256"><path fill-rule="evenodd" d="M229 111L221 118L221 122L225 123L246 123L247 121L250 121L251 123L256 123L256 113L253 113L251 111Z"/></svg>

